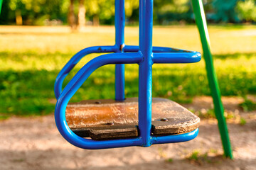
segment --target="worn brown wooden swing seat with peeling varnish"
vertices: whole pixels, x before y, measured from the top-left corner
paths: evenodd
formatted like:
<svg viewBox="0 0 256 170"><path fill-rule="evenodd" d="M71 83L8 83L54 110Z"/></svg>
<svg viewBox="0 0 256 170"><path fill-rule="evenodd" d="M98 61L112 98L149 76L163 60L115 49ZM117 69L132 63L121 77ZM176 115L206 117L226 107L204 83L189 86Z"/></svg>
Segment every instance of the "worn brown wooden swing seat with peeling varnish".
<svg viewBox="0 0 256 170"><path fill-rule="evenodd" d="M139 136L138 98L69 103L65 114L68 126L80 137L115 140ZM152 98L151 114L151 135L154 136L191 132L200 123L198 116L165 98Z"/></svg>

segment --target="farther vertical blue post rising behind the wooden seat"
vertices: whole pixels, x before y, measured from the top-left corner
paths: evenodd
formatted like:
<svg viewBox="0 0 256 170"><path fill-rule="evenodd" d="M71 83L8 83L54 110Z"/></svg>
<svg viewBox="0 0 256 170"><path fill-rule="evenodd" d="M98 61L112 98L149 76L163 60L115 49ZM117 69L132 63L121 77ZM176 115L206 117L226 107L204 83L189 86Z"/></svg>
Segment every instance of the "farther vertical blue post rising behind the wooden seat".
<svg viewBox="0 0 256 170"><path fill-rule="evenodd" d="M125 24L124 0L115 0L114 6L115 45L118 47L117 52L123 52ZM124 101L124 64L116 64L115 67L115 100Z"/></svg>

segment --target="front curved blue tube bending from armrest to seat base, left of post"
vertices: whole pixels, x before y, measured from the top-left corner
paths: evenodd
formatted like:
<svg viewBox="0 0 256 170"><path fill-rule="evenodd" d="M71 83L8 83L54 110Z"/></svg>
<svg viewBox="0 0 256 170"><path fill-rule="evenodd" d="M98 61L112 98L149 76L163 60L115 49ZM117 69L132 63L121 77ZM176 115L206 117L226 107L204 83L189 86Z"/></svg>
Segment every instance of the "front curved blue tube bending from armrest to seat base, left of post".
<svg viewBox="0 0 256 170"><path fill-rule="evenodd" d="M132 64L142 62L142 56L139 53L113 53L107 55L101 55L92 59L90 62L85 64L75 77L70 80L70 82L65 86L63 91L58 97L58 101L55 106L55 123L57 125L60 134L63 135L65 140L72 143L77 147L82 147L86 149L102 149L109 147L125 147L139 145L139 139L135 138L132 140L110 140L110 141L92 141L87 140L82 137L75 135L70 128L68 128L68 123L65 119L65 109L68 105L68 101L75 94L76 91L82 86L83 82L87 77L95 71L95 69L105 65L105 64Z"/></svg>

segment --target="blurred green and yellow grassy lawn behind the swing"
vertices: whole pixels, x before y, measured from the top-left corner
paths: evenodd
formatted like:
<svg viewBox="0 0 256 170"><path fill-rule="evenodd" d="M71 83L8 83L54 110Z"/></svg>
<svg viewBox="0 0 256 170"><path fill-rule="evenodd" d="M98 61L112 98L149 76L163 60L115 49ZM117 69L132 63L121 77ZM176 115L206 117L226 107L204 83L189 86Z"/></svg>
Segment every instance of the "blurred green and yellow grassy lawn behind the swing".
<svg viewBox="0 0 256 170"><path fill-rule="evenodd" d="M125 30L127 45L138 45L138 28ZM210 26L211 47L223 96L256 94L256 26ZM154 28L153 44L201 52L196 26ZM0 113L43 115L55 107L53 84L76 52L94 45L114 45L114 27L88 27L70 33L67 27L0 26ZM85 57L65 84L88 60ZM138 66L126 66L127 97L138 95ZM210 95L205 64L154 64L153 96L188 103ZM114 98L114 65L94 72L72 101Z"/></svg>

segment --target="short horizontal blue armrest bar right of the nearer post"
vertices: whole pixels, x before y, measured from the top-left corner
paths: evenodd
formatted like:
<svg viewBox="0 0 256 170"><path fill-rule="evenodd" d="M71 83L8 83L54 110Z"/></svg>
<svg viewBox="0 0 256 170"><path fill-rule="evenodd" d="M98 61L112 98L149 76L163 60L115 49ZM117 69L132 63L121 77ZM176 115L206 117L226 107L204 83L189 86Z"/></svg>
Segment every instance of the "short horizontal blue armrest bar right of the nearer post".
<svg viewBox="0 0 256 170"><path fill-rule="evenodd" d="M154 63L193 63L201 60L199 52L154 53Z"/></svg>

